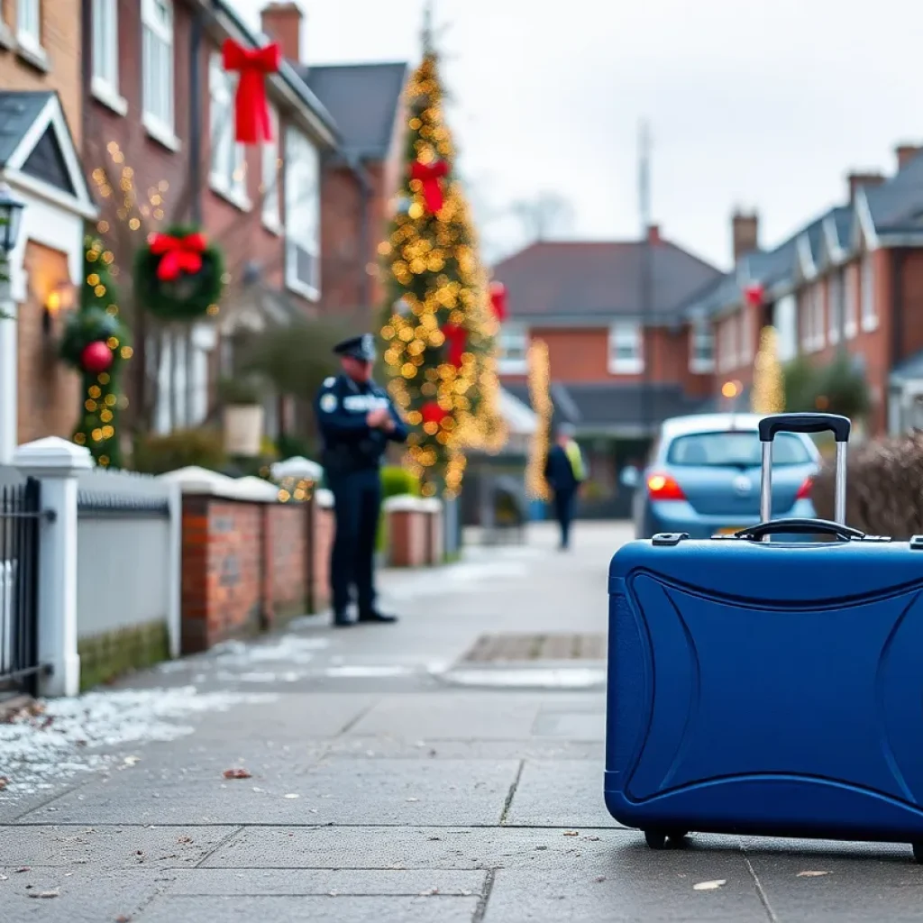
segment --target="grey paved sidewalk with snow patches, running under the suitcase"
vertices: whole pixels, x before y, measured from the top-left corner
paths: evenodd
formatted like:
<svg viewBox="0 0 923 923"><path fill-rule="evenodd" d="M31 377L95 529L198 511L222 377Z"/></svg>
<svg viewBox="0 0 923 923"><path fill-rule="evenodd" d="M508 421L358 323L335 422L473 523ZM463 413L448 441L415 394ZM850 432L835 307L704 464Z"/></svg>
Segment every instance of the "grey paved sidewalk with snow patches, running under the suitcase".
<svg viewBox="0 0 923 923"><path fill-rule="evenodd" d="M923 920L905 846L658 853L611 820L602 665L574 653L627 537L581 523L562 555L540 527L383 575L397 626L304 619L0 726L0 920ZM545 631L590 641L484 659Z"/></svg>

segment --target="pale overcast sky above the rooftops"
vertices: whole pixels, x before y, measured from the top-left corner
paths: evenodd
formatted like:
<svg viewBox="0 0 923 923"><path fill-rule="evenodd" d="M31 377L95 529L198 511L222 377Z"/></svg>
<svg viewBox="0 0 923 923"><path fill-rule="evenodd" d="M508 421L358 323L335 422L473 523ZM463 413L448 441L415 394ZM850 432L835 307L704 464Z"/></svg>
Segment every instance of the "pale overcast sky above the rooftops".
<svg viewBox="0 0 923 923"><path fill-rule="evenodd" d="M233 2L258 23L261 0ZM308 65L419 59L423 0L301 6ZM915 0L435 9L451 126L491 253L520 242L510 204L542 192L572 207L558 236L636 236L641 118L653 137L653 220L722 267L735 206L759 210L772 245L843 201L850 170L891 173L894 144L923 140Z"/></svg>

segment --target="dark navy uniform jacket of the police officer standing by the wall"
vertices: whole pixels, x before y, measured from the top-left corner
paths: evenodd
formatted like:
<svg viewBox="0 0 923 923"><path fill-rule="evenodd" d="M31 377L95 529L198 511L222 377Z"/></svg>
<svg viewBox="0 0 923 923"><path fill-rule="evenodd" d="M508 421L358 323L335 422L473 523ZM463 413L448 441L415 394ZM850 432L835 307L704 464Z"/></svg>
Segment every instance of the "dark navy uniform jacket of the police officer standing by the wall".
<svg viewBox="0 0 923 923"><path fill-rule="evenodd" d="M379 407L386 407L394 421L390 433L366 424L366 416ZM360 384L346 375L325 379L315 402L315 414L324 440L321 464L333 475L374 470L389 441L403 442L407 438L407 426L388 392L374 381Z"/></svg>

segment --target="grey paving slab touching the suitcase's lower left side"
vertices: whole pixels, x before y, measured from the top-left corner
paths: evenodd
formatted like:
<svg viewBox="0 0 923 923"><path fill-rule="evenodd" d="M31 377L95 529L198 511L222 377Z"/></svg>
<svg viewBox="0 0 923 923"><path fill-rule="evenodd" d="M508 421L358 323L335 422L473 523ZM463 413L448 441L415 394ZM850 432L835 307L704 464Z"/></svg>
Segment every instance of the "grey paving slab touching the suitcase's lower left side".
<svg viewBox="0 0 923 923"><path fill-rule="evenodd" d="M616 827L599 760L527 760L504 822L523 827Z"/></svg>

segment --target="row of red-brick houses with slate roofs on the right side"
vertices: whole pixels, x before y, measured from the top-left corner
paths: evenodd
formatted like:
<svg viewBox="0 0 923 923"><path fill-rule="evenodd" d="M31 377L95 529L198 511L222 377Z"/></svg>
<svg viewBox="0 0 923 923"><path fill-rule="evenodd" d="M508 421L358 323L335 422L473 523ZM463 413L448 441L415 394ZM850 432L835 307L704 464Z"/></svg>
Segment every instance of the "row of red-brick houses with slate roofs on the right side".
<svg viewBox="0 0 923 923"><path fill-rule="evenodd" d="M784 361L853 357L869 383L869 434L923 422L923 155L911 145L895 153L891 177L849 174L844 204L773 249L757 249L751 218L753 246L687 310L714 325L715 396L737 381L747 400L759 330L772 323ZM754 283L761 306L744 295Z"/></svg>

